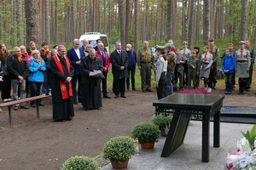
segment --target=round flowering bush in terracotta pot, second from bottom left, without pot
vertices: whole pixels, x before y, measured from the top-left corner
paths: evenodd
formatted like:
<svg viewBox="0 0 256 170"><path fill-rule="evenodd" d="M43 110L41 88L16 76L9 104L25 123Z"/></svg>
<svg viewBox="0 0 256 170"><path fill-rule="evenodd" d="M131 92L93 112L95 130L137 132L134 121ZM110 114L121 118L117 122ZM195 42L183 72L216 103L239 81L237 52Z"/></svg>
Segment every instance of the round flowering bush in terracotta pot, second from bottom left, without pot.
<svg viewBox="0 0 256 170"><path fill-rule="evenodd" d="M103 157L115 163L128 161L135 152L135 141L127 136L110 139L103 147Z"/></svg>

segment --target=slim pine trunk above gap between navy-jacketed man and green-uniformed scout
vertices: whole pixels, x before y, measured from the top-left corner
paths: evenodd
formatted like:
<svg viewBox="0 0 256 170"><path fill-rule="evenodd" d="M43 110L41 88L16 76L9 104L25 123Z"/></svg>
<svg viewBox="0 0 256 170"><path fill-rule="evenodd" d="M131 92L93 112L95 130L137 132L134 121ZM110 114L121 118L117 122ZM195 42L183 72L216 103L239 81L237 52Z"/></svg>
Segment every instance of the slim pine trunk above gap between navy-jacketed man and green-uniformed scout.
<svg viewBox="0 0 256 170"><path fill-rule="evenodd" d="M134 2L134 50L138 52L138 8L139 0Z"/></svg>

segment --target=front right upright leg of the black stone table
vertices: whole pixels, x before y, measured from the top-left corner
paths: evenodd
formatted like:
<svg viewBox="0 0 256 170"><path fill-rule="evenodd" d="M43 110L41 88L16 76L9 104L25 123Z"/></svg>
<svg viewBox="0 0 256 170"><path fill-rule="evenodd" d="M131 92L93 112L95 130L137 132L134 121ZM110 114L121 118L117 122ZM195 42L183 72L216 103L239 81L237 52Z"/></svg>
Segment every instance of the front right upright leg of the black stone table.
<svg viewBox="0 0 256 170"><path fill-rule="evenodd" d="M202 150L201 150L201 161L209 161L210 153L210 117L202 116Z"/></svg>

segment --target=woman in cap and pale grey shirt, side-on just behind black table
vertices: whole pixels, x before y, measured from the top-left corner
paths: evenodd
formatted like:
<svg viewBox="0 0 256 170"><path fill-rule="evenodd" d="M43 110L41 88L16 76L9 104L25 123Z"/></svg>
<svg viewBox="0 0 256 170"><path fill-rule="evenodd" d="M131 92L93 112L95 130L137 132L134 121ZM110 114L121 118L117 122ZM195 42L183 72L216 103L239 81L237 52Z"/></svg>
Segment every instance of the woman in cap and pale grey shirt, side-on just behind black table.
<svg viewBox="0 0 256 170"><path fill-rule="evenodd" d="M155 86L157 90L157 98L163 99L167 96L166 91L166 71L167 71L167 65L168 61L166 60L166 52L165 47L156 46L156 71L155 71Z"/></svg>

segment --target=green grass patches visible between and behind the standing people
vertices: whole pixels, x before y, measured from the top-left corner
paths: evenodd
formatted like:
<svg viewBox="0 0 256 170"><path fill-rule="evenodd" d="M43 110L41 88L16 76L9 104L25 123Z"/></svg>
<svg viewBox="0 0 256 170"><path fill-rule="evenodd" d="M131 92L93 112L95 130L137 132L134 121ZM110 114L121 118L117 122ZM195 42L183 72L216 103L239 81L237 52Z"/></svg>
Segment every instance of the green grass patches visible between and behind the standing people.
<svg viewBox="0 0 256 170"><path fill-rule="evenodd" d="M202 53L202 48L203 48L203 40L200 40L199 41L199 46L201 48L201 53ZM222 40L215 40L215 45L218 46L219 48L219 57L221 56L221 54L224 53L225 49L228 47L228 43L229 43L229 40L226 40L226 39L222 39ZM64 44L67 49L69 48L72 48L73 47L73 43L69 43L69 45L67 46L67 43L66 42L60 42L58 44ZM55 44L53 44L52 46L54 46ZM166 45L166 42L158 42L158 45L161 45L161 46L164 46ZM195 45L195 42L194 42L194 45ZM255 43L251 43L251 46L253 48L256 48L256 44ZM153 40L150 40L149 41L149 47L154 47L154 41ZM182 41L181 40L177 40L175 41L175 47L176 48L183 48L183 45L182 45ZM143 48L143 42L142 41L139 41L139 48ZM235 45L234 49L237 49L238 48L238 44ZM218 69L221 69L221 59L218 59ZM112 90L112 82L113 82L113 76L112 76L112 73L111 73L111 68L109 70L110 72L108 73L108 91L109 90ZM254 75L254 71L253 71L253 86L256 85L256 79L255 79L255 75ZM131 81L130 81L131 83ZM225 82L224 82L224 79L222 80L218 80L218 86L224 86ZM140 77L140 71L138 69L136 69L136 73L135 73L135 86L136 88L141 88L141 77ZM201 87L203 86L203 82L201 82ZM154 71L152 71L152 77L151 77L151 87L154 88L155 87L155 82L154 82ZM130 86L131 88L131 86Z"/></svg>

